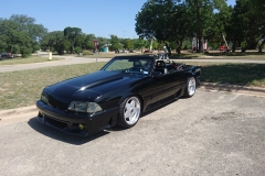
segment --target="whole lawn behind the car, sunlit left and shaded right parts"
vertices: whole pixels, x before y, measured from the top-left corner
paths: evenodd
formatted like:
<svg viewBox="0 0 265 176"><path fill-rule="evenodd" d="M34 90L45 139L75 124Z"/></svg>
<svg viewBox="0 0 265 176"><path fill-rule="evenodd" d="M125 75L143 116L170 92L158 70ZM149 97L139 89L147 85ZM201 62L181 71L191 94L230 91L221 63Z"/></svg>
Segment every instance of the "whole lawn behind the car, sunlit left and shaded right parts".
<svg viewBox="0 0 265 176"><path fill-rule="evenodd" d="M201 66L202 81L265 87L265 64L184 62ZM0 110L32 106L44 87L100 69L106 63L46 67L0 74Z"/></svg>

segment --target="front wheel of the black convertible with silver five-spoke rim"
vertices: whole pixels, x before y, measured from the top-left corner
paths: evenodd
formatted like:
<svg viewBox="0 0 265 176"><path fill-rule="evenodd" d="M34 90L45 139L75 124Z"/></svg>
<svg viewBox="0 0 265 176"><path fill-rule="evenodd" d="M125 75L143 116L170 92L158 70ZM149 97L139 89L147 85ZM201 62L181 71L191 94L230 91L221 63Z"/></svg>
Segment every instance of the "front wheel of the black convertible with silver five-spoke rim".
<svg viewBox="0 0 265 176"><path fill-rule="evenodd" d="M118 125L129 129L141 116L141 101L138 97L128 97L119 106Z"/></svg>

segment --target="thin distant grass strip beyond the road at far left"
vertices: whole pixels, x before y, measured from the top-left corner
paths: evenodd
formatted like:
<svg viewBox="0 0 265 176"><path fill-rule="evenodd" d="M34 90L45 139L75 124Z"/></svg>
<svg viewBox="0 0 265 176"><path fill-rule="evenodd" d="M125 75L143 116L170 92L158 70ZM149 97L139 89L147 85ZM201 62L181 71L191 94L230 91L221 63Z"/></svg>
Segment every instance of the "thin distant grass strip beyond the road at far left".
<svg viewBox="0 0 265 176"><path fill-rule="evenodd" d="M43 62L54 62L54 61L61 61L61 59L64 59L64 58L53 57L50 61L49 57L38 57L38 56L30 56L28 58L14 57L14 58L8 58L8 59L4 59L4 61L0 61L0 65L18 65L18 64L43 63Z"/></svg>

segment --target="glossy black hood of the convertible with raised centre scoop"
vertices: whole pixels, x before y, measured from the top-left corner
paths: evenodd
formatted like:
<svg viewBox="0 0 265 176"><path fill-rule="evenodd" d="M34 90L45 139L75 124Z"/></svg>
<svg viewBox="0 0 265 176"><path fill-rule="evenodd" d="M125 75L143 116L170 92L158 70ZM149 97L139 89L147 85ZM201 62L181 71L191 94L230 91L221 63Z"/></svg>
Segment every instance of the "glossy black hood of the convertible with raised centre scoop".
<svg viewBox="0 0 265 176"><path fill-rule="evenodd" d="M121 73L99 70L51 85L44 91L64 103L72 100L87 101L100 97L108 87L129 79L130 77L125 77Z"/></svg>

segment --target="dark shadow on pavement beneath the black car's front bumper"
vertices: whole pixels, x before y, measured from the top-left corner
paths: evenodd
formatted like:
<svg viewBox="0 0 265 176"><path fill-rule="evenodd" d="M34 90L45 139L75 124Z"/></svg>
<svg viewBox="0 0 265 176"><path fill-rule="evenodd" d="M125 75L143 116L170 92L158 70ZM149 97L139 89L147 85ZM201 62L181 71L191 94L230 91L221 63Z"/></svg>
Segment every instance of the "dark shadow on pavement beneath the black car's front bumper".
<svg viewBox="0 0 265 176"><path fill-rule="evenodd" d="M95 133L95 134L88 135L88 136L76 136L76 135L65 134L61 131L57 131L53 128L50 128L47 125L44 125L44 124L40 123L36 118L31 118L28 121L28 124L33 130L35 130L36 132L39 132L39 133L41 133L45 136L49 136L51 139L62 141L62 142L65 142L65 143L70 143L70 144L73 144L73 145L82 145L84 143L91 142L93 140L96 140L96 139L102 138L102 136L109 133L107 131L102 131L102 132L98 132L98 133Z"/></svg>

